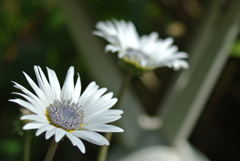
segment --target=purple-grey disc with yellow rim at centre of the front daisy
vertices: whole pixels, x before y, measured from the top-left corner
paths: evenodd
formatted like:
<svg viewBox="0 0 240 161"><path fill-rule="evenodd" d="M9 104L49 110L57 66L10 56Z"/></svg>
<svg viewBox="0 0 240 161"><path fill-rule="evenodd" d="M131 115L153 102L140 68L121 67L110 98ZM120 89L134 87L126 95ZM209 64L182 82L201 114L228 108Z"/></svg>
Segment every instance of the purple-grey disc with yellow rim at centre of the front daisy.
<svg viewBox="0 0 240 161"><path fill-rule="evenodd" d="M46 115L52 125L67 131L80 129L84 120L81 106L71 103L71 100L55 100L54 103L47 108Z"/></svg>

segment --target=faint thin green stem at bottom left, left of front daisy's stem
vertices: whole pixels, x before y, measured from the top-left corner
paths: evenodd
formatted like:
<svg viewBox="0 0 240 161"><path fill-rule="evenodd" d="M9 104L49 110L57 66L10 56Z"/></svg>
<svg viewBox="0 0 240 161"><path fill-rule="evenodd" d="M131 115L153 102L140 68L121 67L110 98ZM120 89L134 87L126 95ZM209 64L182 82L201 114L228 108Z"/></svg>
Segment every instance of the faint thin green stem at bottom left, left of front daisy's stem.
<svg viewBox="0 0 240 161"><path fill-rule="evenodd" d="M31 147L32 135L29 131L26 132L24 136L24 152L23 152L23 160L30 160L30 147Z"/></svg>

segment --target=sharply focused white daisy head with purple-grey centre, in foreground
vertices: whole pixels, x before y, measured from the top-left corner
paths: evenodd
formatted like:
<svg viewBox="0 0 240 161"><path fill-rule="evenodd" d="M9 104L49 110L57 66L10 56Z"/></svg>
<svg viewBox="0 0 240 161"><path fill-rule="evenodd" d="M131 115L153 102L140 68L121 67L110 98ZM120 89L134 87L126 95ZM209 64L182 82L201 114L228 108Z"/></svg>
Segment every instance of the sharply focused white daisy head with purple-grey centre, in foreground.
<svg viewBox="0 0 240 161"><path fill-rule="evenodd" d="M34 66L34 70L38 85L26 73L23 74L36 94L13 82L14 87L23 92L14 94L27 101L18 98L10 101L34 113L21 117L22 120L32 120L23 127L24 130L38 129L36 136L46 132L46 139L55 135L56 142L67 136L83 153L85 147L81 139L97 145L109 145L108 140L96 132L123 132L119 127L107 125L120 119L123 111L109 110L117 98L112 98L113 93L103 95L106 88L99 89L92 82L80 95L80 76L78 74L74 85L74 67L69 68L62 89L53 70L47 68L48 80L40 67Z"/></svg>

